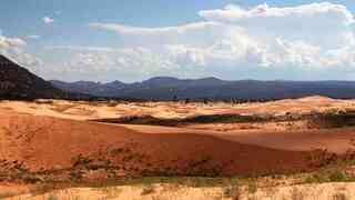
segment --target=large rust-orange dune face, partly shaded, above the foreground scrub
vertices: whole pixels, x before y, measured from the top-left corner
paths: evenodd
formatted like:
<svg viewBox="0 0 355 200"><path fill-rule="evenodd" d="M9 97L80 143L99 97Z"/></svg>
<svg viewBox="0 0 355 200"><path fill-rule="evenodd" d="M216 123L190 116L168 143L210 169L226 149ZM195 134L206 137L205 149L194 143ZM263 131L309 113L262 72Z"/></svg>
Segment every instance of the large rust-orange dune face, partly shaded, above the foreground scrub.
<svg viewBox="0 0 355 200"><path fill-rule="evenodd" d="M121 126L100 124L49 117L0 113L0 159L23 161L31 169L70 167L80 153L101 157L113 149L129 148L156 168L183 171L193 161L209 158L224 174L274 169L301 169L305 153L261 148L194 133L140 133ZM120 163L121 160L113 162ZM263 163L262 166L260 163Z"/></svg>

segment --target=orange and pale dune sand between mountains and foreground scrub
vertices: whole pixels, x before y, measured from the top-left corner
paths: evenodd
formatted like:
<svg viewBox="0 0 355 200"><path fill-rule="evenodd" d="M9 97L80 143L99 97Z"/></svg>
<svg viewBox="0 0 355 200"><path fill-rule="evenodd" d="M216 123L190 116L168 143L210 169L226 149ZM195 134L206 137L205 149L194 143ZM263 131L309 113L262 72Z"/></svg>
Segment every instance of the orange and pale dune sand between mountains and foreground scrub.
<svg viewBox="0 0 355 200"><path fill-rule="evenodd" d="M89 102L0 102L0 159L24 161L32 169L70 167L80 153L100 157L113 149L130 148L143 154L144 161L133 163L174 167L183 170L189 163L207 157L211 164L223 167L225 174L304 168L305 153L314 148L345 152L353 129L339 130L229 130L209 127L163 128L152 126L114 126L83 121L120 114L156 114L176 117L196 113L275 112L275 108L312 111L312 109L347 108L353 101L313 97L267 103L174 104L174 103L89 103ZM191 108L196 108L192 109ZM175 114L173 114L175 113ZM209 126L209 124L207 124ZM210 124L216 127L216 124ZM153 134L152 134L153 133ZM112 158L111 158L112 159ZM114 158L113 158L114 160ZM121 160L114 160L121 162ZM263 163L262 166L260 163ZM176 167L178 166L178 167Z"/></svg>

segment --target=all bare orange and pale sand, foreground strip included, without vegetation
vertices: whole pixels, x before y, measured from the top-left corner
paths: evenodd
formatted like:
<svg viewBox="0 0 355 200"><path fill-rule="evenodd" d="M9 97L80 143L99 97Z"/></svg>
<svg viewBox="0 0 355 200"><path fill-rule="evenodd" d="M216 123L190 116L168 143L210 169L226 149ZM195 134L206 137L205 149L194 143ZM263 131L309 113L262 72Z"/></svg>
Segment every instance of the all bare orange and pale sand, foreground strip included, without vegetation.
<svg viewBox="0 0 355 200"><path fill-rule="evenodd" d="M221 166L222 174L265 172L277 169L307 168L307 151L326 148L344 153L353 148L355 128L305 129L302 122L293 124L212 123L185 127L118 126L88 122L90 119L124 116L153 116L156 118L186 118L200 114L240 113L274 114L354 110L355 100L333 100L311 97L266 103L115 103L70 102L42 100L37 102L0 102L0 160L23 162L31 170L61 169L72 166L72 158L90 154L101 158L115 149L129 149L141 160L129 168L174 168L184 172L191 162L209 158L209 167ZM114 164L122 160L112 157ZM200 160L199 160L200 159ZM211 162L210 162L211 161ZM122 173L124 174L124 172ZM154 186L154 192L144 194L144 188L115 187L104 189L77 188L44 196L21 196L18 199L215 199L224 198L224 188L170 188ZM353 183L278 187L258 190L253 197L261 199L328 199L335 194L355 198ZM11 183L0 184L0 191L13 189ZM312 190L310 190L312 188ZM19 190L22 188L18 188ZM322 192L326 191L326 192ZM300 194L301 193L301 194ZM1 194L1 193L0 193ZM242 199L250 194L242 194Z"/></svg>

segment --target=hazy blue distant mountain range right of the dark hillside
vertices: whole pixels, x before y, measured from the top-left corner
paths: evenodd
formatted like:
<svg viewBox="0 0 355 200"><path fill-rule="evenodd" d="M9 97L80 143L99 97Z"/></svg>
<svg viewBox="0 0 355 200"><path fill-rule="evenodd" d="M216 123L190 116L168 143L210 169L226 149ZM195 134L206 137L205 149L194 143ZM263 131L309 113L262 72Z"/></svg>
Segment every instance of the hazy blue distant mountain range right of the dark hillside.
<svg viewBox="0 0 355 200"><path fill-rule="evenodd" d="M275 100L306 96L355 98L355 82L352 81L226 81L216 78L176 79L156 77L135 83L120 81L109 83L62 82L57 80L51 82L53 86L71 92L143 100Z"/></svg>

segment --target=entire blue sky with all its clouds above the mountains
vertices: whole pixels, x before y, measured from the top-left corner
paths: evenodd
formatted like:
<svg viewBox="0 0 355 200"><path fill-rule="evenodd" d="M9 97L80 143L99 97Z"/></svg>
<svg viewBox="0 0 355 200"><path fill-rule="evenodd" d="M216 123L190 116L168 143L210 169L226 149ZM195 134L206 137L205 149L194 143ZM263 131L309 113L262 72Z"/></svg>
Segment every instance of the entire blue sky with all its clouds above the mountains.
<svg viewBox="0 0 355 200"><path fill-rule="evenodd" d="M352 0L3 0L0 53L45 78L355 80Z"/></svg>

